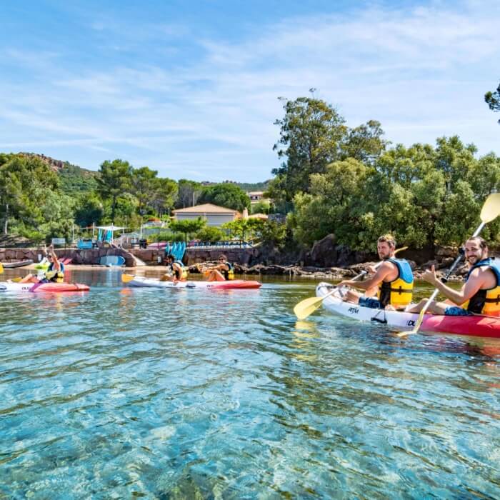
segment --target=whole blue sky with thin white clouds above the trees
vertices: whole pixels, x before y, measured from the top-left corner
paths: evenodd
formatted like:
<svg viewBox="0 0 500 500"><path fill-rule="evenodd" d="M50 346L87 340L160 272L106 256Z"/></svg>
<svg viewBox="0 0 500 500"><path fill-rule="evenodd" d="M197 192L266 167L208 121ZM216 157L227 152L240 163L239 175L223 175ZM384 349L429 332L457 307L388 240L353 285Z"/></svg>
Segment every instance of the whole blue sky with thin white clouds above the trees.
<svg viewBox="0 0 500 500"><path fill-rule="evenodd" d="M500 154L500 2L2 2L0 151L173 179L263 181L279 96L315 96L394 144Z"/></svg>

